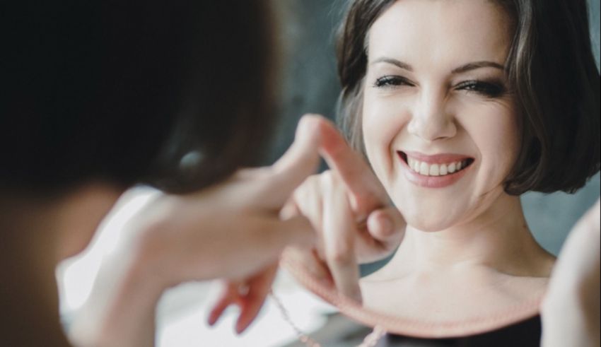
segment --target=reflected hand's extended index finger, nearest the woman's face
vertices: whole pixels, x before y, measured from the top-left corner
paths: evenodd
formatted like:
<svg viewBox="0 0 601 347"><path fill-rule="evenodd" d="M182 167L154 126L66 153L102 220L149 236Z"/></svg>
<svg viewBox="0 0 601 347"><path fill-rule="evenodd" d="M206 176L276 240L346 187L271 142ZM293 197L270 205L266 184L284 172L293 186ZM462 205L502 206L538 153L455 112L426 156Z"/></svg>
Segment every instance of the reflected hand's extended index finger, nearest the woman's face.
<svg viewBox="0 0 601 347"><path fill-rule="evenodd" d="M319 119L318 128L320 153L348 189L353 211L365 218L374 208L387 204L387 194L363 155L354 151L327 119Z"/></svg>

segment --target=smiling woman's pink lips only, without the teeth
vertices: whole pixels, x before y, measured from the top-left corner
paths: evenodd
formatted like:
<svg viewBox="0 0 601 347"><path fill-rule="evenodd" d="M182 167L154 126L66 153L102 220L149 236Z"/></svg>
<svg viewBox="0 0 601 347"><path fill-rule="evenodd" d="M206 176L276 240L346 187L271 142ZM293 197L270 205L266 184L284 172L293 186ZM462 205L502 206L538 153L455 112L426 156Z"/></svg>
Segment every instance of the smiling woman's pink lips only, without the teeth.
<svg viewBox="0 0 601 347"><path fill-rule="evenodd" d="M419 160L424 163L453 163L463 160L468 160L469 162L473 162L473 158L470 158L467 155L460 154L452 154L452 153L442 153L436 155L426 155L419 152L397 152L399 160L401 162L402 172L407 177L409 182L412 182L419 187L427 187L427 188L444 188L448 187L451 184L454 184L458 180L461 179L465 175L465 173L472 166L472 163L469 163L467 167L464 167L462 170L455 172L450 175L445 176L424 176L420 175L418 172L412 170L404 158L405 155L409 155L410 157Z"/></svg>

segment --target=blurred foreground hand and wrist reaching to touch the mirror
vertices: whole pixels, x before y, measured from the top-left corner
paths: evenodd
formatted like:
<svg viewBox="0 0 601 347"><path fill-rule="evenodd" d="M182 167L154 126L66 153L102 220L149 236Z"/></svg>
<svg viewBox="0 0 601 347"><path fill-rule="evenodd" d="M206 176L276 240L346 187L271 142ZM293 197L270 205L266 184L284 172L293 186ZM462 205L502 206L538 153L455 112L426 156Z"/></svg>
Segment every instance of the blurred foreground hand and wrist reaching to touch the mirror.
<svg viewBox="0 0 601 347"><path fill-rule="evenodd" d="M319 163L315 118L271 167L240 170L226 182L185 196L158 197L129 221L98 274L70 336L77 346L152 346L155 307L186 281L224 278L247 286L238 329L257 314L274 264L287 245L313 245L303 216L279 212ZM238 289L239 287L237 287Z"/></svg>

